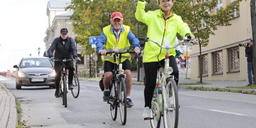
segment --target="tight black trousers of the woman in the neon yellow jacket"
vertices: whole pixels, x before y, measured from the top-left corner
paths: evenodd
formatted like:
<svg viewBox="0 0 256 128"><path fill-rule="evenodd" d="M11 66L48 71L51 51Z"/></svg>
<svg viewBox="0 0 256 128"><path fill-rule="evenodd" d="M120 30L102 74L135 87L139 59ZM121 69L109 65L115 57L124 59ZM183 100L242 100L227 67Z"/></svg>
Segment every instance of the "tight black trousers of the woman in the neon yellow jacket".
<svg viewBox="0 0 256 128"><path fill-rule="evenodd" d="M169 56L169 66L173 68L173 72L171 75L174 75L174 80L176 85L178 85L179 81L179 69L177 67L176 59L174 56ZM165 59L160 60L162 67L164 67ZM147 62L143 63L145 76L146 76L146 86L144 89L144 98L145 98L145 107L151 108L151 101L154 93L154 89L156 87L156 76L158 69L158 62Z"/></svg>

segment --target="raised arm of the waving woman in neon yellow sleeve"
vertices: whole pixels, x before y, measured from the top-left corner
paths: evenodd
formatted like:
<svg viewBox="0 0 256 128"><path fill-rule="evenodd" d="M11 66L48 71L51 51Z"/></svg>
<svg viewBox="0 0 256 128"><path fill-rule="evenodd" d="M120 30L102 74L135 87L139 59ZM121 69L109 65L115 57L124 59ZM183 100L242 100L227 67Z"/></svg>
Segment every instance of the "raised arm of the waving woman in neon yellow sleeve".
<svg viewBox="0 0 256 128"><path fill-rule="evenodd" d="M139 22L145 23L146 25L148 25L148 21L151 15L149 15L148 13L151 11L148 11L147 13L144 11L145 9L145 5L146 2L145 1L138 1L137 4L137 9L135 12L135 17Z"/></svg>

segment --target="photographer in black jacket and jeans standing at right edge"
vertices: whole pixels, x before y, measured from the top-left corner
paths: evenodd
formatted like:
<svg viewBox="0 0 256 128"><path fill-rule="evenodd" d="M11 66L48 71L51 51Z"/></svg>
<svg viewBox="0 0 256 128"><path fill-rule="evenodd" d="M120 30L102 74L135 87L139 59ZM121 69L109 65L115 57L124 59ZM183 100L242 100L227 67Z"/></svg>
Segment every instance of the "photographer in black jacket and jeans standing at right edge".
<svg viewBox="0 0 256 128"><path fill-rule="evenodd" d="M244 47L245 47L245 56L247 57L247 73L248 73L248 80L249 80L249 84L247 86L250 86L253 84L253 82L252 82L253 40L249 40L248 43L249 43L249 46L244 46ZM253 72L253 77L254 77L254 72Z"/></svg>

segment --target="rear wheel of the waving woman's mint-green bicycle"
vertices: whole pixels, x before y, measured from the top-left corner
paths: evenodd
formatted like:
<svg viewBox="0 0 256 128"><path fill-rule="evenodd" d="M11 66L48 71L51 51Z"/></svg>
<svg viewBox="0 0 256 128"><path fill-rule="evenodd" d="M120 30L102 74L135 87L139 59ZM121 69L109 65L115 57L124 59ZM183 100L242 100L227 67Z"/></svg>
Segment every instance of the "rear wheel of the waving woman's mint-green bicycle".
<svg viewBox="0 0 256 128"><path fill-rule="evenodd" d="M160 128L161 116L160 116L160 108L159 108L159 105L157 104L156 89L154 90L151 104L152 104L151 110L152 110L152 116L153 116L153 119L150 120L151 127L152 128ZM158 121L157 121L157 119L158 119Z"/></svg>

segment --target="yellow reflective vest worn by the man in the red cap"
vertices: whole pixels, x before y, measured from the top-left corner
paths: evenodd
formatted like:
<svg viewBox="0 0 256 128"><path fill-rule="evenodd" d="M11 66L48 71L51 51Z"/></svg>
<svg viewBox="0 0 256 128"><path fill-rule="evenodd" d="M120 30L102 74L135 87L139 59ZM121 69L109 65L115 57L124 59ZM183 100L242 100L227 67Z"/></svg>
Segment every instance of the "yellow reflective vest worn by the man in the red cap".
<svg viewBox="0 0 256 128"><path fill-rule="evenodd" d="M130 48L130 43L127 37L130 31L130 27L123 25L123 28L124 28L124 32L120 33L118 44L115 38L115 34L110 32L111 25L103 28L103 32L106 35L106 43L103 45L103 49L105 51L108 52L108 51L111 51L113 47L118 47L118 52L125 52ZM126 59L128 59L129 61L131 60L131 56L129 53L122 54L121 62L125 61ZM108 60L114 63L113 54L112 55L108 54L107 56L103 56L102 61L104 62L105 60ZM119 64L118 58L116 58L116 64Z"/></svg>

